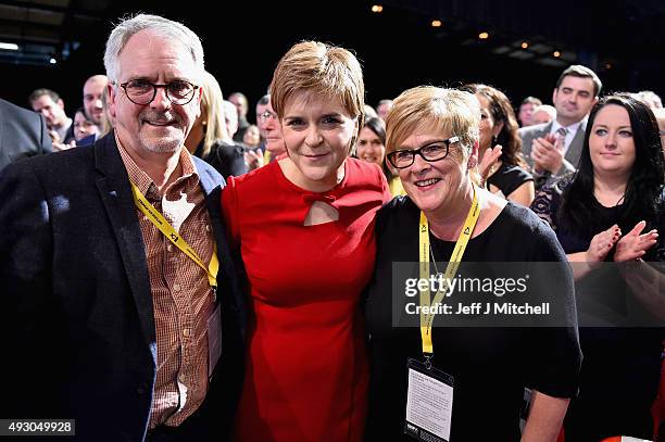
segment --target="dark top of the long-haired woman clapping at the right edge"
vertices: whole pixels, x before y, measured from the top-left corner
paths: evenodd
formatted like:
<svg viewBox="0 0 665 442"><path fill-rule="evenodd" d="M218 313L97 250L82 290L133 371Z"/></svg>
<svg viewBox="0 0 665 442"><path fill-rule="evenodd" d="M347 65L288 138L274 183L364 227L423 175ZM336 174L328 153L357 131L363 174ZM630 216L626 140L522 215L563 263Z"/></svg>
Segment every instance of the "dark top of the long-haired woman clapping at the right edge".
<svg viewBox="0 0 665 442"><path fill-rule="evenodd" d="M538 192L531 209L551 224L566 253L589 249L593 232L573 229L560 216L566 190L573 176L564 177ZM622 206L605 207L591 202L595 224L607 229L619 223ZM656 228L657 243L644 255L647 262L665 261L665 211L663 199L658 215L648 222L644 231ZM633 226L620 226L627 233ZM598 232L597 232L598 233ZM633 295L619 266L607 263L576 282L579 336L585 355L580 374L579 396L570 404L566 439L600 440L628 434L651 439L650 408L661 376L662 320Z"/></svg>

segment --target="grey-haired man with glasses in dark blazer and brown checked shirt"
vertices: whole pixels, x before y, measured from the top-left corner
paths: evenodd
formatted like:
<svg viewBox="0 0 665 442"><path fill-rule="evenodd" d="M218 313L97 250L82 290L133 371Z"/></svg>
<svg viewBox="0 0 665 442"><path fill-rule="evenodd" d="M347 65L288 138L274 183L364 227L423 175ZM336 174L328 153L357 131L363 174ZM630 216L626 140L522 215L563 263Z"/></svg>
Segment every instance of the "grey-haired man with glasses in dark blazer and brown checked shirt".
<svg viewBox="0 0 665 442"><path fill-rule="evenodd" d="M224 180L184 149L203 49L141 14L104 64L115 132L0 174L0 416L76 419L86 441L225 440L246 319Z"/></svg>

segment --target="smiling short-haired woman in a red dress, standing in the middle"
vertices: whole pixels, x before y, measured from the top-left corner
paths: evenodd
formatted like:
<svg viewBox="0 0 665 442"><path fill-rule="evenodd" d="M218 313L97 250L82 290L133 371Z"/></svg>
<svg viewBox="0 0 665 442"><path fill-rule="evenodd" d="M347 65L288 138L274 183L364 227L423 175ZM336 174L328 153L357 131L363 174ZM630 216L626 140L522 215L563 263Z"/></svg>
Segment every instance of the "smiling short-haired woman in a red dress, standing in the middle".
<svg viewBox="0 0 665 442"><path fill-rule="evenodd" d="M349 51L293 46L271 84L287 155L222 195L249 280L241 441L360 441L367 401L361 291L374 217L389 200L376 164L349 157L364 118Z"/></svg>

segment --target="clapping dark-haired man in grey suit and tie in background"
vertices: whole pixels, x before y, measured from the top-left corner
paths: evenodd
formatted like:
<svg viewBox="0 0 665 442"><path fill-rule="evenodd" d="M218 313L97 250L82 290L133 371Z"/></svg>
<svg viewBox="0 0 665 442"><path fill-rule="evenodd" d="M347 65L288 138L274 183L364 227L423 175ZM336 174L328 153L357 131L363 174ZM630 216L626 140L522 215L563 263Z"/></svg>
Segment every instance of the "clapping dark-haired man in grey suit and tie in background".
<svg viewBox="0 0 665 442"><path fill-rule="evenodd" d="M565 70L552 93L556 118L519 129L522 152L532 167L536 188L551 177L574 172L585 140L587 116L598 101L602 84L588 67L572 65Z"/></svg>

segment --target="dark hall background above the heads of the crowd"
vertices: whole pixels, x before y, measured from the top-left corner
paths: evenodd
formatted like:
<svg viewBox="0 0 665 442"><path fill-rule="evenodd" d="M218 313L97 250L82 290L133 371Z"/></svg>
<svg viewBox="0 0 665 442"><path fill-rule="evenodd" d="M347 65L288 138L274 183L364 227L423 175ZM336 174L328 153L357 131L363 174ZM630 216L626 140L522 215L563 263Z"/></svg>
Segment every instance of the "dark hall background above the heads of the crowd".
<svg viewBox="0 0 665 442"><path fill-rule="evenodd" d="M64 21L47 29L60 36L53 54L59 62L25 65L0 59L0 97L27 106L33 89L48 87L63 97L72 115L80 105L85 79L104 72L102 55L112 23L136 12L164 15L196 31L203 41L206 68L225 96L244 92L250 109L267 89L279 58L302 39L352 49L364 67L371 105L412 86L454 87L467 81L504 90L515 106L526 96L549 103L559 74L572 63L593 68L605 92L649 89L665 94L662 0L388 0L381 2L380 14L371 11L378 2L364 0L65 3L65 8L52 8L64 12ZM0 1L2 4L30 2ZM432 18L441 20L442 26L432 28ZM0 20L0 35L9 26L21 28L21 21ZM482 30L490 34L487 40L478 39ZM506 48L518 51L523 40L550 51L530 60L495 53ZM65 47L70 48L66 58L62 55ZM554 49L562 52L563 60L551 55ZM252 121L253 112L248 116Z"/></svg>

